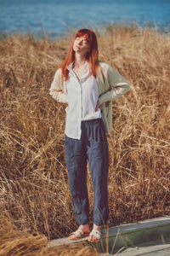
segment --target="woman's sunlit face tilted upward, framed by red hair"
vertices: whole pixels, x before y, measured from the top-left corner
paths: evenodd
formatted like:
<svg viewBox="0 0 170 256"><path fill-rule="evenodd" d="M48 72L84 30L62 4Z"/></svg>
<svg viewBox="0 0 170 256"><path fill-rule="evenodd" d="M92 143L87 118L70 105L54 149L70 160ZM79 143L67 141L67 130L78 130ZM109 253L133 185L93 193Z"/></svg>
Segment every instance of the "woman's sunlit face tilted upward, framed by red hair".
<svg viewBox="0 0 170 256"><path fill-rule="evenodd" d="M73 50L79 55L85 56L90 51L90 44L86 37L76 38L73 44Z"/></svg>

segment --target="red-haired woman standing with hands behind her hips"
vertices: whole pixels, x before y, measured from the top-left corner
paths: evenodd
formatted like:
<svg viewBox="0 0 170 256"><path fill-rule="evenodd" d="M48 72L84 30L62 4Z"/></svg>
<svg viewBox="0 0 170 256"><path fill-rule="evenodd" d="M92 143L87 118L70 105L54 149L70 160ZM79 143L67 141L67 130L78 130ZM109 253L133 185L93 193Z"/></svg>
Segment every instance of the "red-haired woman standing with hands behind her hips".
<svg viewBox="0 0 170 256"><path fill-rule="evenodd" d="M65 60L54 75L50 95L67 103L65 160L71 197L79 228L70 239L88 236L101 239L101 227L108 220L108 144L111 131L112 100L129 90L129 84L108 64L98 59L93 31L77 32ZM94 185L94 227L89 229L87 160Z"/></svg>

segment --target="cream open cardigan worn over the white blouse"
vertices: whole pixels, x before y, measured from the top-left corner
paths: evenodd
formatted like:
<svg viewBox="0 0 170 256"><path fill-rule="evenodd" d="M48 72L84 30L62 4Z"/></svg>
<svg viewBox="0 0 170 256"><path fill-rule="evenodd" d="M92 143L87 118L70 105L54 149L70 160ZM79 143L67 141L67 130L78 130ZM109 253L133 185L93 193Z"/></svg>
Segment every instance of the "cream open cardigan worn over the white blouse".
<svg viewBox="0 0 170 256"><path fill-rule="evenodd" d="M99 108L104 120L105 131L111 132L112 101L125 94L130 85L127 80L117 73L110 65L99 61L100 67L96 76L99 87ZM61 69L54 75L49 94L58 102L68 103L66 82L62 79ZM68 107L65 109L67 111Z"/></svg>

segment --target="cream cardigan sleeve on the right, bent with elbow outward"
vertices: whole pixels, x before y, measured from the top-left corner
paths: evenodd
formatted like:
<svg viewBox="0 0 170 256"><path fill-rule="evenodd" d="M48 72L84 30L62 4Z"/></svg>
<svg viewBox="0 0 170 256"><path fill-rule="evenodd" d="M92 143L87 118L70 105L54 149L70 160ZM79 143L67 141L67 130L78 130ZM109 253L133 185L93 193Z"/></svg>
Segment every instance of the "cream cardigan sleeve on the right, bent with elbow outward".
<svg viewBox="0 0 170 256"><path fill-rule="evenodd" d="M99 96L99 104L116 100L130 89L127 80L117 73L111 66L108 67L105 79L107 80L106 83L109 83L110 89Z"/></svg>

